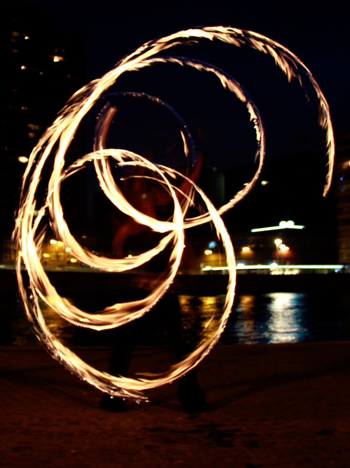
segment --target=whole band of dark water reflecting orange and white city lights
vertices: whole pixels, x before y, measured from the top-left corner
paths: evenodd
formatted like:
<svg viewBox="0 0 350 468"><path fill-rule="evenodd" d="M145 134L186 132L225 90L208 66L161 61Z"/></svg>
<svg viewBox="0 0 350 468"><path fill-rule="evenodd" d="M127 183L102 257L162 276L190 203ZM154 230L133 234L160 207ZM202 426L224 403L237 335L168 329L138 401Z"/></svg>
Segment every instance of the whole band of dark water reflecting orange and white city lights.
<svg viewBox="0 0 350 468"><path fill-rule="evenodd" d="M185 338L191 340L193 334L203 337L204 325L213 314L215 318L220 316L224 300L224 295L179 296ZM77 301L79 298L74 299ZM97 296L89 298L89 306L93 310L96 310L97 302ZM159 311L163 313L161 304L160 301L155 320L145 322L142 345L167 342L164 324L159 319ZM43 307L43 313L51 333L65 345L113 344L113 330L99 332L76 327L47 307ZM0 316L0 345L39 344L15 294L2 295ZM210 327L205 333L210 333ZM220 341L223 344L254 344L349 339L350 292L269 292L237 295Z"/></svg>

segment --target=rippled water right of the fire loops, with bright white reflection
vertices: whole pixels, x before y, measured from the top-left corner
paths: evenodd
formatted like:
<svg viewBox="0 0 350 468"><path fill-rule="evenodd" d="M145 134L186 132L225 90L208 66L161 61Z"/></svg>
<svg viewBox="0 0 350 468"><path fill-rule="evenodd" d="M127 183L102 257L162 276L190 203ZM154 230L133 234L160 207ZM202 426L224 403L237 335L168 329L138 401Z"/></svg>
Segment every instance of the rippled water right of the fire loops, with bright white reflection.
<svg viewBox="0 0 350 468"><path fill-rule="evenodd" d="M297 343L350 339L350 295L270 292L241 295L224 343Z"/></svg>

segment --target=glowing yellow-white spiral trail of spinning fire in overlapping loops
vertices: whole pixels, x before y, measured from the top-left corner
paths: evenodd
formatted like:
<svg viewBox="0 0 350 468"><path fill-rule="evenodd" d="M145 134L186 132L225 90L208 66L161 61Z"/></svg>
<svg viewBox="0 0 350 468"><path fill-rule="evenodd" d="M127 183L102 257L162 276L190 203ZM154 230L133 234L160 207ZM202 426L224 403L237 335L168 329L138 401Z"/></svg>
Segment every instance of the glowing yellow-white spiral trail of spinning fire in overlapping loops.
<svg viewBox="0 0 350 468"><path fill-rule="evenodd" d="M54 358L66 366L72 373L86 380L87 383L99 388L110 395L121 396L124 398L135 398L143 400L143 390L163 385L167 382L177 379L184 373L196 366L214 346L221 335L225 323L233 304L236 273L235 256L229 234L221 220L220 215L232 208L238 201L252 189L261 172L264 162L265 136L264 127L261 121L259 111L248 93L243 87L234 80L229 74L219 68L201 62L199 60L188 59L184 57L155 56L159 52L168 50L178 44L195 44L199 40L220 40L224 43L232 44L238 47L248 46L261 51L264 54L271 55L282 72L286 75L288 81L296 78L303 86L303 80L306 79L315 91L320 109L319 124L326 131L326 144L328 148L329 168L324 188L324 196L329 191L331 175L334 164L334 137L332 123L329 114L328 103L323 96L321 89L314 80L307 67L291 51L281 44L264 37L252 31L236 29L230 27L204 27L179 31L166 37L157 38L153 41L143 44L133 51L127 57L122 59L111 71L102 78L93 80L83 88L79 89L66 104L60 115L54 123L44 132L40 141L33 149L29 157L28 166L25 170L20 205L15 222L13 239L17 249L16 271L19 284L19 290L24 302L29 321L33 324L36 335L48 347ZM174 63L179 66L190 66L201 72L213 73L221 85L234 93L242 101L250 115L250 120L254 124L257 140L257 170L248 183L243 185L236 195L218 210L203 193L202 190L191 180L174 169L165 166L152 164L144 157L123 149L106 149L105 141L109 125L113 118L115 110L110 107L102 112L100 121L96 130L94 151L80 158L64 169L65 154L69 148L72 139L81 123L93 105L104 95L116 80L127 71L140 70L144 67L152 66L155 63ZM157 99L148 96L151 99ZM161 102L159 100L159 102ZM167 105L164 102L161 102ZM168 106L170 107L170 106ZM182 122L182 121L181 121ZM192 163L195 165L195 150L193 148L192 137L186 130L183 123L181 136L184 142L184 152L186 157L192 155ZM41 174L45 162L49 156L55 154L54 165L48 184L47 197L43 205L38 208L36 193L38 184L41 180ZM174 203L172 218L168 221L160 221L138 211L124 197L120 188L114 181L111 172L109 158L113 158L119 166L136 166L147 169L152 174L152 178L162 184ZM100 186L109 200L121 212L130 216L137 223L149 227L151 230L166 234L159 244L148 252L134 256L132 258L111 259L103 256L97 256L93 252L83 248L71 234L69 227L64 219L63 208L60 203L60 188L62 182L75 174L89 162L93 161ZM171 180L183 180L186 190L181 190ZM194 204L195 194L198 194L207 209L207 212L195 218L187 218L188 207ZM43 216L48 211L50 214L50 225L57 239L64 242L64 245L71 250L72 256L81 263L89 265L92 268L101 271L121 272L136 268L149 261L152 257L161 252L168 243L171 243L172 251L168 266L163 274L158 278L154 290L143 300L131 301L127 303L115 303L104 310L90 314L78 307L73 306L68 300L61 297L55 287L51 285L41 263L41 251L44 240L44 233L39 232L39 227L43 222ZM36 216L34 213L38 213ZM179 362L163 374L157 374L151 378L147 374L138 379L129 379L126 377L113 376L108 373L100 372L92 366L86 364L75 353L61 344L55 336L48 330L40 309L39 300L43 300L59 316L65 320L82 327L102 330L121 326L131 320L135 320L145 314L151 307L162 298L171 282L174 280L179 268L184 244L184 229L198 226L211 221L216 233L221 239L226 252L226 261L229 268L229 282L225 305L220 320L217 321L214 331L205 342L202 342L191 352L183 361ZM41 227L40 227L41 229ZM21 274L21 258L18 251L22 252L22 259L26 266L31 295L28 297L27 291L23 285Z"/></svg>

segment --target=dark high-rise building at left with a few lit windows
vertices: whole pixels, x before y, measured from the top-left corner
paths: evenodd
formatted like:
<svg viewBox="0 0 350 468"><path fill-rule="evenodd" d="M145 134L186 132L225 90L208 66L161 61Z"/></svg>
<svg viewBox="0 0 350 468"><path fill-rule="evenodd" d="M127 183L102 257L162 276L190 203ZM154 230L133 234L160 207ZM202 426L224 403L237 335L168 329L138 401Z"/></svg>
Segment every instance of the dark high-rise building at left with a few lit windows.
<svg viewBox="0 0 350 468"><path fill-rule="evenodd" d="M35 5L6 1L1 13L0 241L6 257L29 154L57 111L86 83L86 41L59 27L58 13ZM84 152L85 135L74 144Z"/></svg>

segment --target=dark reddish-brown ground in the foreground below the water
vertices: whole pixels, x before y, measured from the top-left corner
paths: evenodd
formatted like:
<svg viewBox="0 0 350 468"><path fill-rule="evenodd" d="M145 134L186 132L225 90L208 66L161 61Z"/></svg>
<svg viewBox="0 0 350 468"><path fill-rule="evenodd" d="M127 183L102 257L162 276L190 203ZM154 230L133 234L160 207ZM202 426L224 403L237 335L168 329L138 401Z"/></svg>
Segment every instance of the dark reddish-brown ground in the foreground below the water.
<svg viewBox="0 0 350 468"><path fill-rule="evenodd" d="M76 351L106 368L110 351ZM134 369L167 362L136 351ZM207 411L183 412L177 385L99 408L100 394L40 348L0 348L0 466L350 466L350 342L217 345L199 367Z"/></svg>

